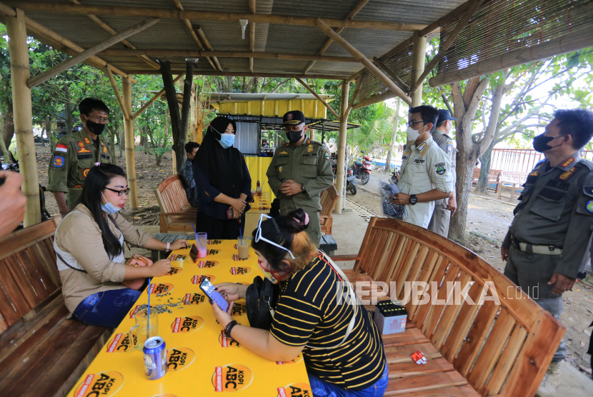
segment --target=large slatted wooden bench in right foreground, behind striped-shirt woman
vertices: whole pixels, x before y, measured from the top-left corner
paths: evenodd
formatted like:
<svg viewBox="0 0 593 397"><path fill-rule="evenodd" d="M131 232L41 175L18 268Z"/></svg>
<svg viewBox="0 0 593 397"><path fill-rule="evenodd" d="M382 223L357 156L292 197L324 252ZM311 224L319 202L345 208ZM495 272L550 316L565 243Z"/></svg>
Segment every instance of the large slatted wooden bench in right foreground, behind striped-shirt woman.
<svg viewBox="0 0 593 397"><path fill-rule="evenodd" d="M565 328L475 253L411 223L371 218L359 253L332 258L356 261L345 271L354 283L395 281L389 292L407 308L407 329L383 336L386 396L534 396ZM431 303L407 302L405 281L428 283ZM499 304L456 301L453 281L474 302L493 298L493 288L484 292L492 282ZM381 296L381 287L370 292ZM424 365L410 358L418 349Z"/></svg>

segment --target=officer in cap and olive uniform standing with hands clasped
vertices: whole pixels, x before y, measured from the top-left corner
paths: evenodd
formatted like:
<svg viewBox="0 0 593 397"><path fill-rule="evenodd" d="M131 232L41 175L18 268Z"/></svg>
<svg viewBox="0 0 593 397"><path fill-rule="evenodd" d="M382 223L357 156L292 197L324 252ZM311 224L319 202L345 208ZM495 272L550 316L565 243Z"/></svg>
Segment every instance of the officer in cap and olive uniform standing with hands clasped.
<svg viewBox="0 0 593 397"><path fill-rule="evenodd" d="M308 127L301 111L284 114L283 126L289 143L276 149L266 172L268 183L279 198L281 215L296 208L303 208L309 214L307 234L319 246L321 192L334 182L332 165L322 144L307 139Z"/></svg>

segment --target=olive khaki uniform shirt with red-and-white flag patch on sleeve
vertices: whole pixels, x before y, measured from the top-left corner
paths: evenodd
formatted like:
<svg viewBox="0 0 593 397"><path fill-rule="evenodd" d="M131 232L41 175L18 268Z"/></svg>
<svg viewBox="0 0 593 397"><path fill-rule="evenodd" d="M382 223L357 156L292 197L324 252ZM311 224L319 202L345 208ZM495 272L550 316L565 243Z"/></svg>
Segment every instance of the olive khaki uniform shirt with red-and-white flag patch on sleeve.
<svg viewBox="0 0 593 397"><path fill-rule="evenodd" d="M66 193L68 208L76 204L82 194L82 185L86 174L95 163L114 164L114 157L101 141L99 147L81 129L73 134L62 137L56 144L56 149L49 161L49 191L63 191Z"/></svg>

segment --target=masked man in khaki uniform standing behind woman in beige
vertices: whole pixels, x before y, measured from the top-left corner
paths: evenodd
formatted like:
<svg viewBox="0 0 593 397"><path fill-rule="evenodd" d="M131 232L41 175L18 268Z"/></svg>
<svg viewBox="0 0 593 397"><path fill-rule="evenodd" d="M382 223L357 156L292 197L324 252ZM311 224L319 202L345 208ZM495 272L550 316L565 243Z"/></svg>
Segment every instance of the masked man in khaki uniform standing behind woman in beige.
<svg viewBox="0 0 593 397"><path fill-rule="evenodd" d="M79 104L84 129L67 134L56 144L49 162L49 186L62 216L76 205L86 174L95 163L114 164L114 158L99 135L109 122L109 108L99 99L86 98Z"/></svg>

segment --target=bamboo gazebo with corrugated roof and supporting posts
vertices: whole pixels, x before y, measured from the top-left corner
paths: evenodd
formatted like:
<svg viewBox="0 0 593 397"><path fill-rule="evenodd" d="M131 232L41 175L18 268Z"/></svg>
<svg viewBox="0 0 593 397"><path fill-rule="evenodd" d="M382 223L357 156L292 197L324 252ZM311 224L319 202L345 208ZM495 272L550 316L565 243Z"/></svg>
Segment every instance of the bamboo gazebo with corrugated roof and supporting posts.
<svg viewBox="0 0 593 397"><path fill-rule="evenodd" d="M14 124L27 197L24 226L40 220L31 88L79 62L109 75L124 114L131 207L137 208L135 74L171 72L297 79L340 123L338 191L352 109L399 96L416 106L430 87L575 51L593 43L593 0L54 0L2 1L10 43ZM439 52L425 64L427 37ZM71 55L29 74L27 35ZM188 59L201 58L199 63ZM190 68L190 69L188 69ZM115 76L122 79L117 90ZM304 79L341 81L339 114ZM187 78L186 78L187 79ZM349 86L356 81L354 95ZM191 85L191 79L189 79ZM349 99L350 98L350 99ZM173 96L173 101L175 101ZM336 208L336 211L341 211Z"/></svg>

